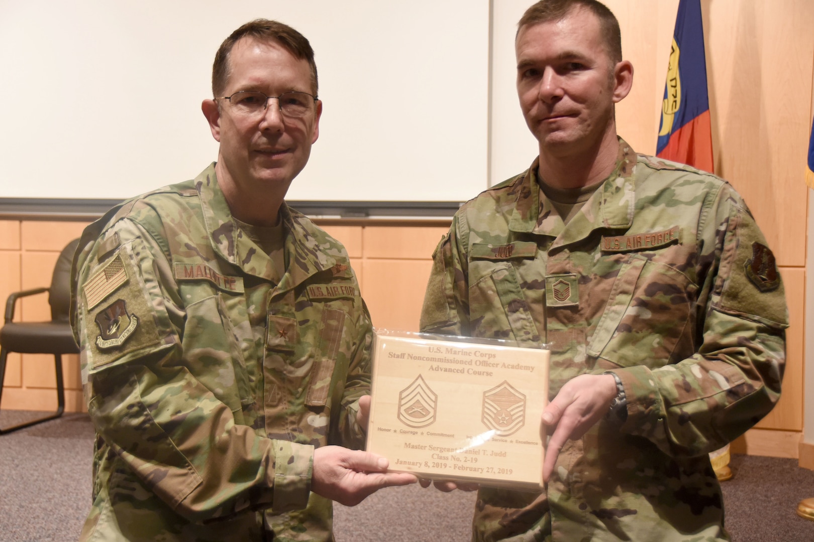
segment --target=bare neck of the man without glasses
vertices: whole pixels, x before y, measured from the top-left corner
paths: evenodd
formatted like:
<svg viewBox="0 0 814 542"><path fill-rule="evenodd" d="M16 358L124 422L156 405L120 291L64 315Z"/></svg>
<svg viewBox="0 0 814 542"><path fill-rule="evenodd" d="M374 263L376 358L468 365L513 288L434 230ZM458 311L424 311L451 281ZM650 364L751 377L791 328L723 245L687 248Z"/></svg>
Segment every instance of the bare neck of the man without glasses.
<svg viewBox="0 0 814 542"><path fill-rule="evenodd" d="M601 141L584 150L558 152L540 145L540 179L555 189L577 189L596 184L610 175L619 156L616 131L608 130Z"/></svg>

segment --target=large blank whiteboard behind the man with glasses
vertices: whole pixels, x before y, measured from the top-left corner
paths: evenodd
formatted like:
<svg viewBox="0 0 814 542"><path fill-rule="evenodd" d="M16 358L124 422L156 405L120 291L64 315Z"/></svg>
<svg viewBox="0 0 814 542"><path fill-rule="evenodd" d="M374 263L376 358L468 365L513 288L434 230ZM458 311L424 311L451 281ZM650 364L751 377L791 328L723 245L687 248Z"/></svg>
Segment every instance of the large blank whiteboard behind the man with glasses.
<svg viewBox="0 0 814 542"><path fill-rule="evenodd" d="M316 53L320 136L287 199L488 187L488 0L0 0L0 197L120 199L195 177L217 158L200 111L215 52L257 17Z"/></svg>

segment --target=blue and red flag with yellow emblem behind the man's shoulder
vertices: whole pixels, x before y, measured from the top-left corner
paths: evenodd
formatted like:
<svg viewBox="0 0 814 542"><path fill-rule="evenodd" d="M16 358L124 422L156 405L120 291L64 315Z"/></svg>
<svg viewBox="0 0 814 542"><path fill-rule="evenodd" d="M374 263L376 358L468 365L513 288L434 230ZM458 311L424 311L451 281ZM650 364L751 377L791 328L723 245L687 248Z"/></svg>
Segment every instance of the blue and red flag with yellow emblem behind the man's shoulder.
<svg viewBox="0 0 814 542"><path fill-rule="evenodd" d="M678 4L656 155L704 171L714 169L700 0Z"/></svg>

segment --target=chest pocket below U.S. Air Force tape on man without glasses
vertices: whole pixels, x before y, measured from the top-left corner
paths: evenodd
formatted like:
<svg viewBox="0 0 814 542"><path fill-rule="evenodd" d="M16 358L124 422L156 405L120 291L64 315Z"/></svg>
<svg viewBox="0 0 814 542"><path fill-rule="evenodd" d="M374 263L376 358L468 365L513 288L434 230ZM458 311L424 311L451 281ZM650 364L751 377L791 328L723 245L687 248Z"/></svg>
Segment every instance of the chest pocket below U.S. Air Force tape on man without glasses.
<svg viewBox="0 0 814 542"><path fill-rule="evenodd" d="M698 285L676 270L632 254L619 269L588 353L619 366L651 369L694 352Z"/></svg>

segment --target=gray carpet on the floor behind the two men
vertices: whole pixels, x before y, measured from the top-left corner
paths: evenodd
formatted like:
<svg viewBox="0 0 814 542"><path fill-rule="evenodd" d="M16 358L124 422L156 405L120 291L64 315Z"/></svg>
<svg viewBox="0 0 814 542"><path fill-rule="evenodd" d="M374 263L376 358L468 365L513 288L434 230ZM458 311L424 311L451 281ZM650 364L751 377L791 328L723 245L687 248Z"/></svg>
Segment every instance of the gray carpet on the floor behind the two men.
<svg viewBox="0 0 814 542"><path fill-rule="evenodd" d="M4 411L0 427L36 413ZM86 414L0 436L0 542L77 540L90 507L94 431ZM794 459L735 455L723 484L735 542L811 542L814 522L794 514L814 496L814 471ZM474 493L418 485L387 488L361 505L335 506L338 542L466 542Z"/></svg>

